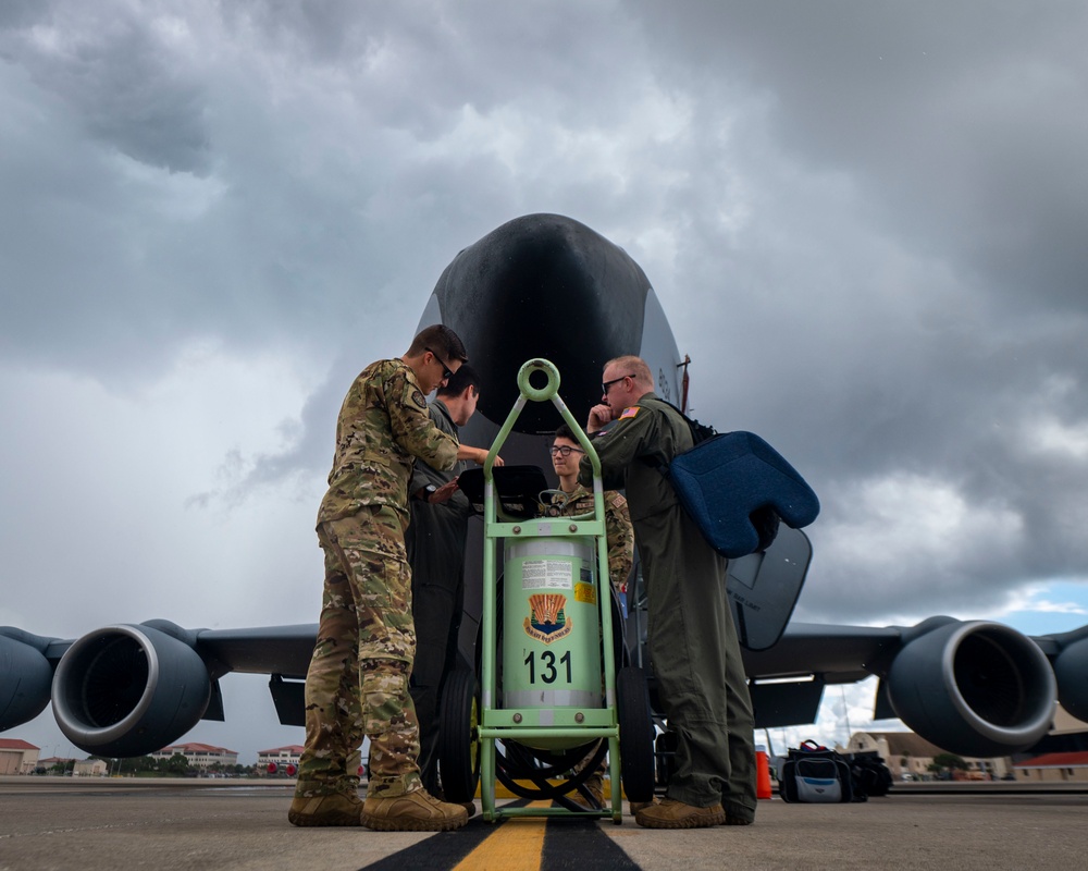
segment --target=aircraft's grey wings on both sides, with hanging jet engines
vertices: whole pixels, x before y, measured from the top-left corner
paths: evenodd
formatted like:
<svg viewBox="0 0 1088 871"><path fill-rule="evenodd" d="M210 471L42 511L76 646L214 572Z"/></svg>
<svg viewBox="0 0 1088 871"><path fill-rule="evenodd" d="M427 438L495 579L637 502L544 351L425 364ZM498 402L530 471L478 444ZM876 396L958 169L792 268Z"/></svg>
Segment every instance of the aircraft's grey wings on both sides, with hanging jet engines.
<svg viewBox="0 0 1088 871"><path fill-rule="evenodd" d="M141 756L200 719L222 719L218 682L230 672L269 674L281 722L301 725L316 635L316 624L187 630L149 621L62 640L0 627L0 731L37 716L51 699L75 746ZM912 627L794 623L774 647L744 651L744 663L759 727L814 722L825 685L869 675L881 678L877 716L899 716L964 756L1035 745L1059 698L1073 715L1088 715L1088 626L1028 638L951 617Z"/></svg>

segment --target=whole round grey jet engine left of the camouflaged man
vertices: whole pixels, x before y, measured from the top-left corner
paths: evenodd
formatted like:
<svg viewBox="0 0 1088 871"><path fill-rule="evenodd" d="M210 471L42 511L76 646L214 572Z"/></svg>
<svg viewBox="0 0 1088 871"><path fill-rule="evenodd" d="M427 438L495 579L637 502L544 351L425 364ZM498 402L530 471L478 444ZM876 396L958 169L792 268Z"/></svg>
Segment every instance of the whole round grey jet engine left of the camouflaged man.
<svg viewBox="0 0 1088 871"><path fill-rule="evenodd" d="M188 732L211 698L199 654L150 626L107 626L69 648L53 678L53 716L76 747L145 756Z"/></svg>

